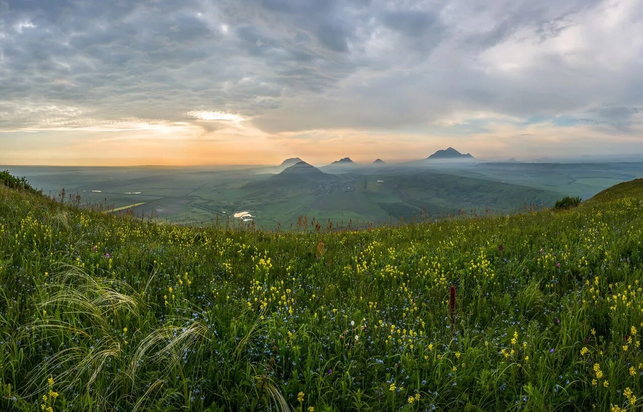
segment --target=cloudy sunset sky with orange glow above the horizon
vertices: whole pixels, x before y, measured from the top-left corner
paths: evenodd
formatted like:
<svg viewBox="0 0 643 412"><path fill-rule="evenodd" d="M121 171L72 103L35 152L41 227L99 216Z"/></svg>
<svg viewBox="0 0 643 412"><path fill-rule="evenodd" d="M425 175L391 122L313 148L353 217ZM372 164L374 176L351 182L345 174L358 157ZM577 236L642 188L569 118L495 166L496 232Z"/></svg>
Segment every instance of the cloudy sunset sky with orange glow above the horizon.
<svg viewBox="0 0 643 412"><path fill-rule="evenodd" d="M0 164L643 153L643 0L0 0Z"/></svg>

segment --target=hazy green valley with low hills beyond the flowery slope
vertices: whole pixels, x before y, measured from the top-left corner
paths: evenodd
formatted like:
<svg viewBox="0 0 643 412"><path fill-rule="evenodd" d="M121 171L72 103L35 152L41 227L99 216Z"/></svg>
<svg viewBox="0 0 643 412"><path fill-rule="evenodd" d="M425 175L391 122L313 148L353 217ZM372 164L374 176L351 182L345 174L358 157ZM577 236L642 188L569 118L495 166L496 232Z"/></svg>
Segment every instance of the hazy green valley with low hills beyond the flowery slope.
<svg viewBox="0 0 643 412"><path fill-rule="evenodd" d="M464 156L464 155L462 155ZM469 155L470 156L470 155ZM49 195L78 193L84 203L125 208L179 224L255 224L291 228L300 217L334 228L440 219L458 213L509 213L587 199L643 177L643 163L431 161L314 167L3 166ZM252 217L239 219L235 213Z"/></svg>

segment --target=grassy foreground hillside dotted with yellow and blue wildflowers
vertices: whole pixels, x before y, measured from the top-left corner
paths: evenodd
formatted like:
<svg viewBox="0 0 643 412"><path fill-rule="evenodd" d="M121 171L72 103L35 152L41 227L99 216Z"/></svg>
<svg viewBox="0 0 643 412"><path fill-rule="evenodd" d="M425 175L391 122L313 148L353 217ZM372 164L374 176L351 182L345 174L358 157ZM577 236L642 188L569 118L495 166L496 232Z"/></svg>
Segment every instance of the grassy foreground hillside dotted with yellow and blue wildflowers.
<svg viewBox="0 0 643 412"><path fill-rule="evenodd" d="M172 226L0 186L0 408L633 409L631 185L341 233Z"/></svg>

